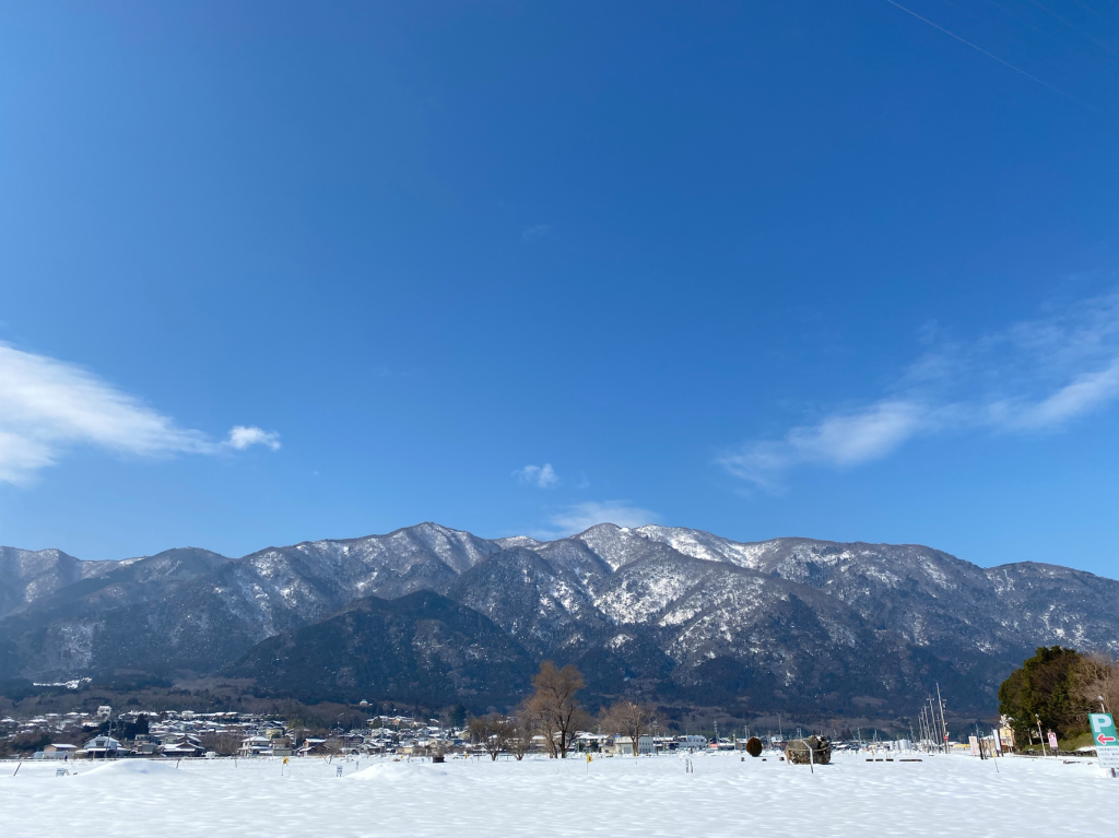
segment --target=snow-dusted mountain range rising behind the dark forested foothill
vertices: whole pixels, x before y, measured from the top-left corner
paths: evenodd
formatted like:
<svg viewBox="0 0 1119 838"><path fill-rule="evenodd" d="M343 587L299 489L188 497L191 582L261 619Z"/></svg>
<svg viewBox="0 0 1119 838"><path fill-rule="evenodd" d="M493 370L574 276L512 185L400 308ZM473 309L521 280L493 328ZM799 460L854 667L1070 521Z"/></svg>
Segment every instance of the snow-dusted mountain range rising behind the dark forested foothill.
<svg viewBox="0 0 1119 838"><path fill-rule="evenodd" d="M602 524L538 542L421 524L236 559L184 548L82 562L0 548L0 680L239 666L282 690L256 644L283 635L291 648L301 630L365 597L420 591L442 603L424 608L451 613L445 597L488 618L519 650L502 652L508 660L577 663L598 695L742 712L903 712L933 681L958 709L989 710L998 682L1036 646L1119 651L1119 582L1056 565L981 568L918 545L743 544L658 526ZM413 646L427 642L416 613ZM474 624L454 613L457 625ZM467 643L473 630L461 625L444 644ZM470 641L470 655L487 644ZM321 667L312 681L323 696L402 697L388 684L323 678ZM510 672L510 700L523 682ZM471 689L459 697L469 703Z"/></svg>

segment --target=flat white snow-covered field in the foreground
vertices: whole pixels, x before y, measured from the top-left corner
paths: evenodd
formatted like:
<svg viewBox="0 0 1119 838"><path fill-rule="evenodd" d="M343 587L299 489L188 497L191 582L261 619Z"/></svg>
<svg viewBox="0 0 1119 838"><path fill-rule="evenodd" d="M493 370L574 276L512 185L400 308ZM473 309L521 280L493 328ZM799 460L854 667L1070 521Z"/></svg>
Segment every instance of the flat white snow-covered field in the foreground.
<svg viewBox="0 0 1119 838"><path fill-rule="evenodd" d="M924 756L827 768L739 754L640 760L364 759L0 763L0 835L1119 835L1119 780L1094 761ZM281 775L281 772L283 774Z"/></svg>

